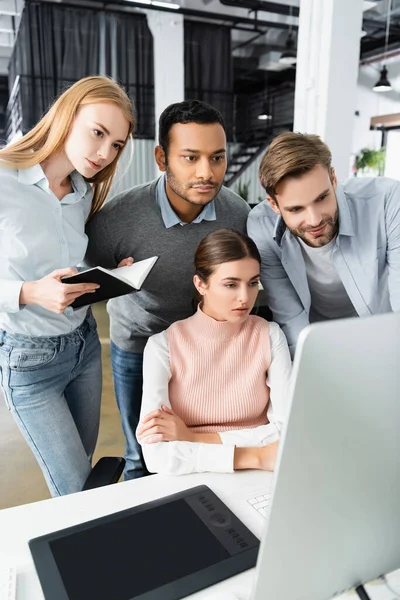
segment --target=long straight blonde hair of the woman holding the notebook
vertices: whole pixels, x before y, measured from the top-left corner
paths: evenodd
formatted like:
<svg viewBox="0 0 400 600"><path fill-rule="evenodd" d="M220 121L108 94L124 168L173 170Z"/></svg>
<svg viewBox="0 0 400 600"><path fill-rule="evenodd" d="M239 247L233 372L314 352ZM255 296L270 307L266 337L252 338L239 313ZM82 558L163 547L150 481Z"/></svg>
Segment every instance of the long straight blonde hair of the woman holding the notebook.
<svg viewBox="0 0 400 600"><path fill-rule="evenodd" d="M0 150L0 161L12 169L28 169L45 161L60 150L71 131L73 121L81 106L112 102L123 112L129 122L127 140L132 137L136 119L131 100L115 81L108 77L85 77L68 88L39 123L20 140ZM121 150L107 167L89 181L93 184L92 217L104 204L110 191Z"/></svg>

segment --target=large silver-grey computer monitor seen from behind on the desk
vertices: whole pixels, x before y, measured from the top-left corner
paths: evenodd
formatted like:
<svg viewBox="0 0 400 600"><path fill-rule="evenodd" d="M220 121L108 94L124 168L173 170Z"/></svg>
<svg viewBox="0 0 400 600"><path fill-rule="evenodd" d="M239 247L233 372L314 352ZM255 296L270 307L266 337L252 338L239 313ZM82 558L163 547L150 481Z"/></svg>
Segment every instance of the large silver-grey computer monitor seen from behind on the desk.
<svg viewBox="0 0 400 600"><path fill-rule="evenodd" d="M400 314L311 325L254 600L328 600L400 567Z"/></svg>

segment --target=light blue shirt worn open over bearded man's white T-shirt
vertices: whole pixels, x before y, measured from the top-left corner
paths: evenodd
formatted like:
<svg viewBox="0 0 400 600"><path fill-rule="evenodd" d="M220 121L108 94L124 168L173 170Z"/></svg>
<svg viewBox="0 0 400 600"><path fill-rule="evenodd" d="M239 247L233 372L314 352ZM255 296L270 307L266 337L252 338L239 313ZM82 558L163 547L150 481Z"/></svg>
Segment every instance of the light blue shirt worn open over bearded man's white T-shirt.
<svg viewBox="0 0 400 600"><path fill-rule="evenodd" d="M400 310L400 182L353 178L337 187L336 198L339 233L332 260L357 314ZM268 201L250 212L247 231L261 254L261 282L274 321L293 355L311 307L300 244Z"/></svg>

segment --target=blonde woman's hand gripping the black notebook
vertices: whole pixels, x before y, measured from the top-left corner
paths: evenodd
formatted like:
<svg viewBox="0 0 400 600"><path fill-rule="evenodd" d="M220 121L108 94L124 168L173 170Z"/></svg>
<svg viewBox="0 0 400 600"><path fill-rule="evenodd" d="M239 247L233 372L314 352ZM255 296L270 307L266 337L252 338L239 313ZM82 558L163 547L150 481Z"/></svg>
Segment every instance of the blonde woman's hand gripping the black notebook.
<svg viewBox="0 0 400 600"><path fill-rule="evenodd" d="M63 313L76 298L100 287L97 283L61 283L62 277L76 273L76 269L57 269L37 281L26 281L22 284L19 303L38 304L51 312Z"/></svg>

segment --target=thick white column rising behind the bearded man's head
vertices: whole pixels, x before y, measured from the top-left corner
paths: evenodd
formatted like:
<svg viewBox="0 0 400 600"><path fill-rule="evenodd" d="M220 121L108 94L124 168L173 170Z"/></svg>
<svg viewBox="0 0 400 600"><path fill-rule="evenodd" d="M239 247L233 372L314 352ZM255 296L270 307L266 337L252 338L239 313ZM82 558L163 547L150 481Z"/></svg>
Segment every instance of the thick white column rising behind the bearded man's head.
<svg viewBox="0 0 400 600"><path fill-rule="evenodd" d="M316 133L349 175L363 0L300 0L294 131Z"/></svg>

